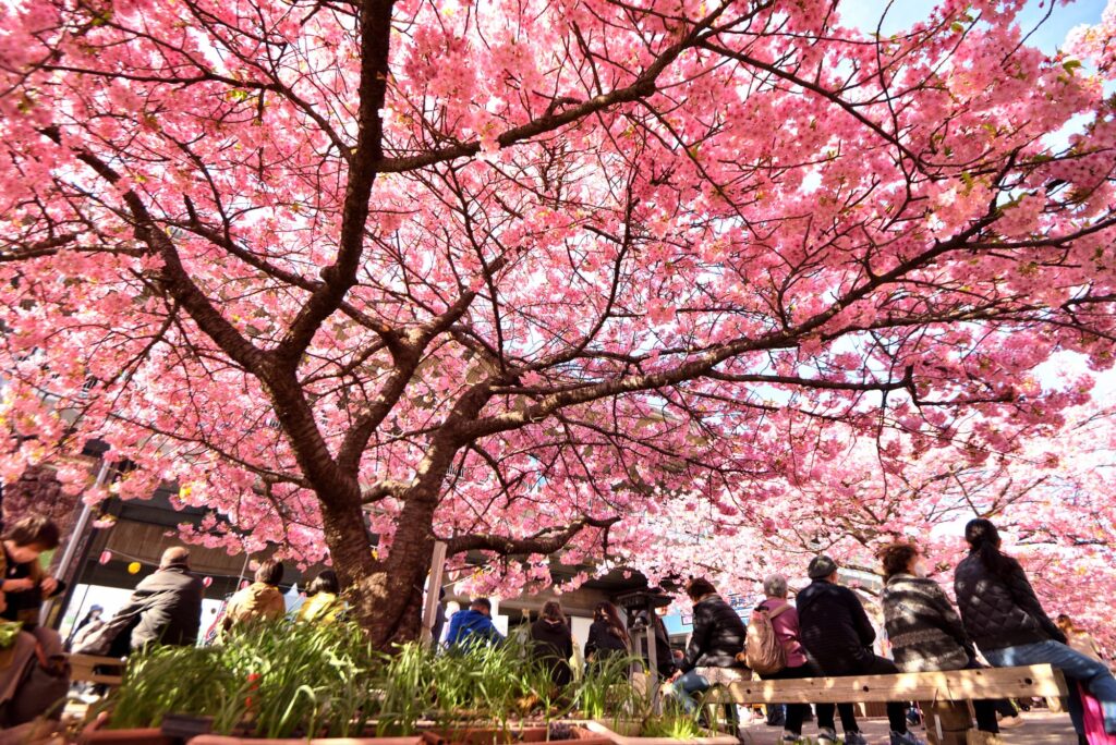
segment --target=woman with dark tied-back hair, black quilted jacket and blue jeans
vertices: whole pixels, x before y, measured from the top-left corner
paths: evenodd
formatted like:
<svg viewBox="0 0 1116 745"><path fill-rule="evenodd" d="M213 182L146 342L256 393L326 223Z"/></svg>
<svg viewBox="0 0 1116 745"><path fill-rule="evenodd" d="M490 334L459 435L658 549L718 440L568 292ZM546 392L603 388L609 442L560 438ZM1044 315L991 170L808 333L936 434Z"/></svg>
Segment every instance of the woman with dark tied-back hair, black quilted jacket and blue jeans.
<svg viewBox="0 0 1116 745"><path fill-rule="evenodd" d="M954 591L965 631L993 667L1048 664L1069 679L1069 715L1085 735L1081 697L1089 689L1104 710L1105 732L1116 734L1116 678L1099 662L1066 645L1066 635L1042 603L1019 562L1000 552L1000 532L978 517L965 525L969 555L958 564Z"/></svg>

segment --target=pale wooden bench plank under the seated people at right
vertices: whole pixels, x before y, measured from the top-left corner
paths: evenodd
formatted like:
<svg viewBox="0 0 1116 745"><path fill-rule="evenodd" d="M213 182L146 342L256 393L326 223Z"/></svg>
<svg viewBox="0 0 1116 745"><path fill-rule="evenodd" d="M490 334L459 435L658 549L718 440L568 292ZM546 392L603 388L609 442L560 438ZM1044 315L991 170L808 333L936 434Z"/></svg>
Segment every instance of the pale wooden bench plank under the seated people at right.
<svg viewBox="0 0 1116 745"><path fill-rule="evenodd" d="M841 704L857 702L934 702L980 698L1068 696L1069 689L1049 665L860 675L797 680L741 680L714 689L710 702L734 704Z"/></svg>

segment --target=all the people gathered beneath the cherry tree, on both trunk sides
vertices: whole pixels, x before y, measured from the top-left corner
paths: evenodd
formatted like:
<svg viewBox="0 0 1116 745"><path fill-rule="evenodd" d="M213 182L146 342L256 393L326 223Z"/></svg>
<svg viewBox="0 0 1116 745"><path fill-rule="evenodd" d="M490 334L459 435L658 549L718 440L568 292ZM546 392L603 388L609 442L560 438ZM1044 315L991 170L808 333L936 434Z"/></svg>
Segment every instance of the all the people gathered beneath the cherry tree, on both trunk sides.
<svg viewBox="0 0 1116 745"><path fill-rule="evenodd" d="M892 658L874 650L876 630L860 598L839 581L839 568L827 555L812 558L807 567L809 584L789 601L786 577L771 574L763 580L764 599L752 613L753 630L768 628L779 647L778 665L757 666L762 678L795 679L818 676L852 676L961 670L990 665L1010 667L1049 664L1070 683L1069 713L1084 735L1084 709L1077 685L1094 697L1103 712L1104 728L1116 734L1116 678L1103 659L1096 641L1065 615L1055 622L1046 613L1018 561L1001 551L995 525L977 519L965 526L969 555L954 571L956 607L936 581L926 577L923 557L912 543L893 543L879 554L884 586L879 594ZM29 687L27 669L44 668L35 695L45 702L50 686L61 685L51 677L50 660L59 673L65 668L62 642L57 632L38 626L41 602L62 591L64 586L40 567L39 555L57 548L58 528L44 517L25 517L8 528L2 540L0 617L18 621L21 630L7 667L0 665L0 726L12 724L6 712L19 710L19 697ZM254 581L234 593L224 615L215 623L217 639L256 621L282 618L286 602L279 583L283 565L262 562ZM629 659L639 652L634 631L651 628L657 673L670 691L689 710L695 697L720 681L718 670L748 674L745 652L748 627L740 615L705 578L692 578L685 592L693 606L693 631L685 651L670 648L666 628L656 615L644 612L629 629L616 607L600 602L584 648L589 666L604 665L616 657ZM190 570L190 552L183 546L167 549L157 570L136 586L128 602L112 618L94 606L70 635L74 651L125 657L152 644L194 645L202 616L203 587ZM337 575L321 572L308 588L308 599L296 621L333 622L344 612ZM570 660L575 644L570 623L557 601L547 602L528 631L531 654L543 660L556 685L574 677ZM435 638L437 638L435 636ZM446 647L499 644L503 636L492 620L492 606L477 598L453 615ZM983 658L983 660L981 659ZM36 660L39 662L35 665ZM23 666L23 667L20 667ZM29 666L29 667L28 667ZM754 666L754 662L753 662ZM27 669L25 669L25 667ZM57 676L55 676L57 677ZM65 689L62 689L65 695ZM844 742L865 743L855 712L848 704L818 704L819 743L836 743L839 715ZM886 707L893 745L917 745L922 741L907 729L906 702ZM998 703L974 702L978 728L994 737L999 731ZM786 707L782 742L798 743L810 713L806 704Z"/></svg>

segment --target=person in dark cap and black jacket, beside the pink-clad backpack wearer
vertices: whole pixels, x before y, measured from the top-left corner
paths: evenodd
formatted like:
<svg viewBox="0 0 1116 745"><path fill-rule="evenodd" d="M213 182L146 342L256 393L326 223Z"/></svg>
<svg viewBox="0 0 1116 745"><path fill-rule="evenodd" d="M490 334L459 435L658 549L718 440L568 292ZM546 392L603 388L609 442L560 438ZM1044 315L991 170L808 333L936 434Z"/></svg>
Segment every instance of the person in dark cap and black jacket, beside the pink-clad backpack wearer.
<svg viewBox="0 0 1116 745"><path fill-rule="evenodd" d="M876 630L856 593L837 583L837 562L821 554L810 561L812 580L798 593L799 640L826 675L889 675L895 662L872 651ZM892 745L924 745L907 732L906 705L887 703ZM859 729L845 731L845 742L863 745Z"/></svg>

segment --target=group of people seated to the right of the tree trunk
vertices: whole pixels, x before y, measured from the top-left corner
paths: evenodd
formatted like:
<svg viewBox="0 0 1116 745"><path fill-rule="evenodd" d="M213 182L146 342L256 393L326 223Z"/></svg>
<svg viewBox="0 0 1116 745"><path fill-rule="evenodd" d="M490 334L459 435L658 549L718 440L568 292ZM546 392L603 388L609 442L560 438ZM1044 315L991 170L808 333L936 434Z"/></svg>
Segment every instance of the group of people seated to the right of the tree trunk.
<svg viewBox="0 0 1116 745"><path fill-rule="evenodd" d="M810 583L798 591L795 603L788 600L786 577L767 577L766 597L756 610L766 616L781 645L782 664L760 677L795 679L961 670L985 664L1049 664L1061 670L1070 684L1069 713L1083 742L1084 715L1076 684L1099 702L1105 731L1116 734L1116 679L1096 642L1068 617L1060 616L1058 623L1050 620L1019 562L1001 552L999 532L990 521L971 521L965 526L965 540L969 555L954 572L958 607L936 581L926 577L917 546L894 543L881 552L884 587L879 601L892 659L875 652L876 630L868 613L857 593L841 586L839 567L829 557L818 555L809 562ZM747 627L708 579L691 579L685 592L693 604L693 631L685 651L673 650L677 655L672 655L657 617L654 636L660 675L667 679L680 704L692 710L695 696L721 679L719 669L747 673L748 660L742 654ZM533 654L550 666L555 683L568 683L574 640L558 602L546 603L530 627L529 638L536 642ZM490 602L479 598L469 609L454 615L446 644L454 647L501 639L491 620ZM599 603L585 644L587 664L634 651L616 608ZM999 732L997 712L1003 702L973 704L978 729L994 742ZM922 742L907 728L907 706L908 702L886 706L893 745ZM814 708L818 743L838 742L838 715L846 744L866 742L852 705L818 704ZM802 724L809 712L806 704L786 707L782 742L802 742Z"/></svg>

